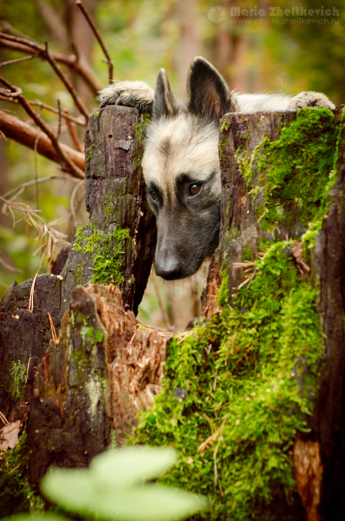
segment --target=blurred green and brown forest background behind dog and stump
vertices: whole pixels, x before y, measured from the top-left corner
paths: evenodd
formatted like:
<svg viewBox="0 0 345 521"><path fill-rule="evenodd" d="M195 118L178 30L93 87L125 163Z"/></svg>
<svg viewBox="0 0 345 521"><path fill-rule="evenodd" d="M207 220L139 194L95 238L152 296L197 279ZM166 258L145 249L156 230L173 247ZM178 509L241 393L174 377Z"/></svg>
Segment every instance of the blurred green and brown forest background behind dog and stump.
<svg viewBox="0 0 345 521"><path fill-rule="evenodd" d="M164 67L172 89L184 95L190 60L202 55L217 67L231 88L248 92L284 91L293 95L302 90L319 90L326 92L335 104L345 102L345 0L324 0L320 5L315 0L272 3L85 0L83 3L106 43L117 79L142 79L155 86L157 71ZM277 9L272 10L272 6ZM242 10L238 17L231 16L234 7ZM303 16L284 14L284 10L293 7L304 8ZM331 9L332 14L308 14L308 9L317 8ZM251 16L247 16L246 9L253 10ZM74 0L0 0L0 17L2 32L32 39L41 46L48 42L49 50L77 55L79 63L90 72L93 89L71 69L64 70L88 111L97 108L95 87L101 88L108 82L108 67ZM26 56L23 52L0 47L1 62L23 56ZM70 94L47 61L34 57L10 63L0 66L0 75L19 86L26 99L39 99L55 109L60 106L80 118ZM30 121L20 106L5 99L0 98L0 109ZM75 147L64 119L59 121L59 115L41 107L36 106L35 110L56 132L59 130L60 141ZM82 143L86 128L82 125L75 128ZM60 219L53 226L70 242L76 225L87 222L82 182L61 173L57 164L34 150L0 136L0 195L34 179L54 175L59 178L27 186L16 196L16 201L39 209L39 215L47 223ZM13 226L10 213L3 215L6 209L4 206L0 215L0 294L14 280L23 282L38 270L46 273L50 260L42 262L40 252L34 255L37 250L34 228L28 228L23 220ZM53 257L59 248L61 244L55 246ZM183 330L188 320L199 313L199 295L205 279L206 269L185 282L159 283L168 320L177 330ZM152 282L139 318L146 324L166 326Z"/></svg>

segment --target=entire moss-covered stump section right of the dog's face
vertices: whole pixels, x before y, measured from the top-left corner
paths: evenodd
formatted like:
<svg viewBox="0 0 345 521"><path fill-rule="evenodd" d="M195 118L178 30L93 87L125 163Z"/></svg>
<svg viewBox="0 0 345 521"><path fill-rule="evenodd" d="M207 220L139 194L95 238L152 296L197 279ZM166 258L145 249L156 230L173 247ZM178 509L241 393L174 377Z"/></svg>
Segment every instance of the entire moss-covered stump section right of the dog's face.
<svg viewBox="0 0 345 521"><path fill-rule="evenodd" d="M210 495L207 519L344 519L343 133L324 108L222 121L210 321L170 343L163 393L134 438L179 449L165 480ZM325 233L327 253L315 248Z"/></svg>

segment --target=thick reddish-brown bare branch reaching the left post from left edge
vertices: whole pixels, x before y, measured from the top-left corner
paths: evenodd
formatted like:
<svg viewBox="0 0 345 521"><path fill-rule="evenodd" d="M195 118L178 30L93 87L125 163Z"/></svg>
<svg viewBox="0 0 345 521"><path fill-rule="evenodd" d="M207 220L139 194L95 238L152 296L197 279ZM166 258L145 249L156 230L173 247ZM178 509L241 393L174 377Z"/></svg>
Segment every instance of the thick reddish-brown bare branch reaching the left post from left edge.
<svg viewBox="0 0 345 521"><path fill-rule="evenodd" d="M0 132L3 132L3 134L10 139L14 139L14 141L28 146L32 150L34 150L34 141L37 139L37 135L40 134L37 141L37 152L47 157L47 159L61 164L61 156L57 153L56 148L52 146L52 142L46 134L41 133L37 128L21 121L21 119L6 114L6 112L2 110L0 110ZM63 170L73 177L77 177L77 179L83 179L84 155L62 143L59 143L59 147L65 157L69 159L69 162L72 161L73 164L77 166L78 173L75 175L75 171L70 170L68 164L66 167L63 167Z"/></svg>

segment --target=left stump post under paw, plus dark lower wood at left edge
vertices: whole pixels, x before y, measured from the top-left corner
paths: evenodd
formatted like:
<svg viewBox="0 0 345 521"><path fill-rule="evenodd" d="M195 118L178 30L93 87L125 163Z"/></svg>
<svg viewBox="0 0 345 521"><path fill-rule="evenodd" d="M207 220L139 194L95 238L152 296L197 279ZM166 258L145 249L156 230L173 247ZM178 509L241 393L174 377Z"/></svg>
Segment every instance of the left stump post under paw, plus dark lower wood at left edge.
<svg viewBox="0 0 345 521"><path fill-rule="evenodd" d="M28 307L33 279L11 288L1 301L0 410L10 418L13 408L14 416L19 409L21 417L28 411L34 374L52 338L48 312L59 331L78 284L86 286L92 279L117 284L126 309L137 313L155 250L155 222L141 175L144 126L143 117L132 108L109 106L95 112L86 132L90 222L79 228L68 248L61 277L37 277L32 313ZM17 394L11 391L13 371L21 371Z"/></svg>

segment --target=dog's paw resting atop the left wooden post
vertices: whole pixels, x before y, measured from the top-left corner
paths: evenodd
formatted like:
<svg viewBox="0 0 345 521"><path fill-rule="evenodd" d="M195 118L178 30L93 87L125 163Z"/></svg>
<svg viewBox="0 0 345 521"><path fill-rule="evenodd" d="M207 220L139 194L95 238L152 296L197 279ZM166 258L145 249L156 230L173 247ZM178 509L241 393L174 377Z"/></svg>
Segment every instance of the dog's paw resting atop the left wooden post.
<svg viewBox="0 0 345 521"><path fill-rule="evenodd" d="M146 110L152 106L154 91L144 81L114 81L99 92L101 107L123 105Z"/></svg>

